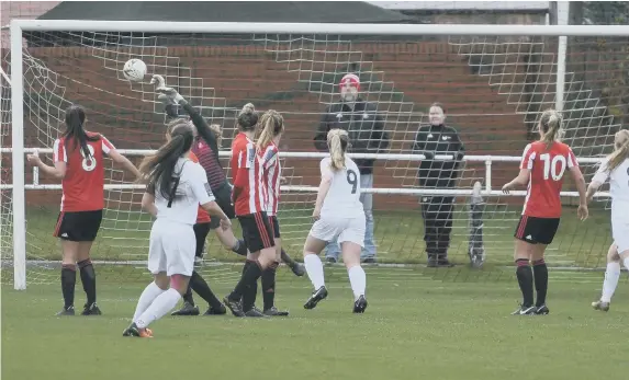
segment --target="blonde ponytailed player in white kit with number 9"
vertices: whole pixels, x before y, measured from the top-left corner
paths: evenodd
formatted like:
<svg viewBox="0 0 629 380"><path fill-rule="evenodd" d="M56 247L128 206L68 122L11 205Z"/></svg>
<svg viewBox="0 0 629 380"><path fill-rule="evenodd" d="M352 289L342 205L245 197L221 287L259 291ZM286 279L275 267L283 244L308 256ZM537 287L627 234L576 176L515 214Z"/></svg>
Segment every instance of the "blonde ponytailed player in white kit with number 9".
<svg viewBox="0 0 629 380"><path fill-rule="evenodd" d="M333 241L338 241L347 267L353 291L353 312L362 313L367 309L367 277L360 266L366 217L360 203L360 172L356 163L345 156L348 142L346 130L332 129L327 134L329 157L321 161L322 180L313 211L315 222L304 244L306 273L314 286L305 309L314 309L327 297L318 254Z"/></svg>

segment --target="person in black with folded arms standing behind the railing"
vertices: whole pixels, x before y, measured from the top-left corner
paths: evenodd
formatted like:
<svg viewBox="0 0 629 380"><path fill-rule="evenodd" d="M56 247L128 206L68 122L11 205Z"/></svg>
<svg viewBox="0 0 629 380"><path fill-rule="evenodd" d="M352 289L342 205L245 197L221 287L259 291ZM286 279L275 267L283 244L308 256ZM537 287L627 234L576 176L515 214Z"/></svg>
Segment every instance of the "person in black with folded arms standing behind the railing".
<svg viewBox="0 0 629 380"><path fill-rule="evenodd" d="M434 103L429 110L430 125L419 127L413 152L425 154L419 163L418 180L422 188L453 188L465 149L457 129L446 126L446 110ZM436 154L453 156L453 160L435 160ZM423 196L424 241L428 266L451 266L448 260L454 197Z"/></svg>

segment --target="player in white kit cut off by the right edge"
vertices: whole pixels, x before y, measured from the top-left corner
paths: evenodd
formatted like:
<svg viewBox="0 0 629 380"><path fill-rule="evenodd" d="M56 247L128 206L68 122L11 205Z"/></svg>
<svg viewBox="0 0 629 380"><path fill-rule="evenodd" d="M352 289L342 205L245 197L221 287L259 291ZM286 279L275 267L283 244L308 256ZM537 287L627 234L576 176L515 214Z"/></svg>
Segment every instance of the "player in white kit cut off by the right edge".
<svg viewBox="0 0 629 380"><path fill-rule="evenodd" d="M616 150L598 168L592 183L587 186L587 200L609 180L611 195L611 235L614 243L607 253L607 270L603 281L603 293L598 301L592 302L595 310L608 311L609 303L618 279L620 278L620 262L629 269L629 130L616 134L614 139Z"/></svg>

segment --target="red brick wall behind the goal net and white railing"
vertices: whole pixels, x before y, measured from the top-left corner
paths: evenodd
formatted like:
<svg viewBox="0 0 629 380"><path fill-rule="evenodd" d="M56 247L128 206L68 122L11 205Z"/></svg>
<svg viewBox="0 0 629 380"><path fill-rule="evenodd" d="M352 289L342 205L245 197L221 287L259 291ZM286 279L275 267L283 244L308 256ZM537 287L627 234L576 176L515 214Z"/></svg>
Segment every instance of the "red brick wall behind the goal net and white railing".
<svg viewBox="0 0 629 380"><path fill-rule="evenodd" d="M364 61L373 62L373 71L382 71L385 81L394 82L394 90L404 94L405 102L414 103L412 116L387 117L387 129L393 134L392 152L411 148L422 113L430 103L445 103L449 124L456 126L465 142L468 154L519 154L526 142L524 116L515 114L503 95L492 89L486 79L471 73L467 60L457 55L447 43L389 43L359 44ZM148 149L159 146L164 138L162 117L157 113L150 85L130 85L119 80L126 58L120 55L93 57L89 48L31 48L30 53L52 70L47 74L33 70L25 72L25 83L31 88L31 117L26 123L26 145L52 145L56 137L53 118L60 118L65 104L54 97L37 94L57 93L66 100L82 104L89 110L90 128L106 135L119 148ZM128 53L128 51L127 51ZM312 138L324 104L316 93L300 84L304 72L287 70L285 62L276 62L274 56L259 46L234 47L175 47L169 57L179 57L178 74L192 80L180 81L196 88L189 95L198 104L240 106L251 101L259 108L274 108L284 114L288 131L282 149L314 151ZM117 57L117 58L116 58ZM117 62L111 59L117 59ZM161 59L161 60L160 60ZM148 60L150 72L164 72L166 58ZM171 76L172 61L168 60ZM316 71L316 68L311 68ZM183 71L182 71L183 70ZM182 74L183 73L183 74ZM203 88L202 91L199 88ZM212 89L211 89L212 88ZM47 89L47 91L44 91ZM290 99L269 94L290 93ZM395 104L383 100L380 93L369 93L368 99L379 102L381 112L392 111ZM330 95L322 96L323 101ZM52 105L52 106L50 106ZM157 112L156 112L157 111ZM38 114L37 117L33 117ZM411 120L411 122L408 122ZM227 129L234 126L232 114L220 119ZM225 141L227 147L229 141ZM285 166L293 168L292 184L316 185L317 165L314 160L290 159ZM415 182L416 164L412 162L380 161L377 168L377 187L401 187ZM502 169L501 169L502 168ZM515 165L514 165L515 168ZM499 165L494 169L495 184L513 175L514 168ZM497 170L496 170L497 169ZM507 172L505 172L505 170ZM484 179L482 163L469 163L461 186L469 188L473 181ZM406 208L416 205L416 198L395 196L377 197L377 208ZM29 193L29 201L55 204L58 194Z"/></svg>

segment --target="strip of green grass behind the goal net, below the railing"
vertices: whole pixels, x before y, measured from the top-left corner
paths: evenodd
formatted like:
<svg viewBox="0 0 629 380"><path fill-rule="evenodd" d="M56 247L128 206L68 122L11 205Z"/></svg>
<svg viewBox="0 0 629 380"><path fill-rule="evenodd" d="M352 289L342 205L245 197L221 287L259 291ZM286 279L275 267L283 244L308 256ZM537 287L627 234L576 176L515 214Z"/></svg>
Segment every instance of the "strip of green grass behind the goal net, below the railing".
<svg viewBox="0 0 629 380"><path fill-rule="evenodd" d="M418 207L417 207L418 208ZM506 208L487 205L484 214L484 241L487 262L507 264L512 261L513 233L519 218L520 207ZM58 260L59 249L52 237L56 209L30 208L27 210L29 258ZM293 256L301 256L304 239L312 226L311 211L293 210L280 214L283 245ZM418 209L408 211L374 211L375 240L379 260L383 263L424 263L424 228ZM239 235L239 226L234 223ZM145 260L150 219L138 212L108 210L103 228L92 249L92 257L106 261ZM468 212L458 207L452 231L450 257L467 262ZM237 261L233 253L220 246L210 234L209 252L218 261ZM554 243L549 249L549 262L554 265L600 267L610 243L609 211L592 209L585 222L576 218L573 207L564 207L561 226Z"/></svg>

